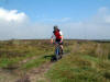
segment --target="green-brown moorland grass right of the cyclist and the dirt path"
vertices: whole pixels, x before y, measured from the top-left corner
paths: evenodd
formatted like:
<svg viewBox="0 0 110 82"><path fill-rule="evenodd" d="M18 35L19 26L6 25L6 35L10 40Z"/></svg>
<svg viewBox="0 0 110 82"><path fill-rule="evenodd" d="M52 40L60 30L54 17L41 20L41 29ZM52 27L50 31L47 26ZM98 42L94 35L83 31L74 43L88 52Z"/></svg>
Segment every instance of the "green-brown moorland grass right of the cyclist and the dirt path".
<svg viewBox="0 0 110 82"><path fill-rule="evenodd" d="M52 82L110 82L110 43L74 42L68 56L46 73Z"/></svg>

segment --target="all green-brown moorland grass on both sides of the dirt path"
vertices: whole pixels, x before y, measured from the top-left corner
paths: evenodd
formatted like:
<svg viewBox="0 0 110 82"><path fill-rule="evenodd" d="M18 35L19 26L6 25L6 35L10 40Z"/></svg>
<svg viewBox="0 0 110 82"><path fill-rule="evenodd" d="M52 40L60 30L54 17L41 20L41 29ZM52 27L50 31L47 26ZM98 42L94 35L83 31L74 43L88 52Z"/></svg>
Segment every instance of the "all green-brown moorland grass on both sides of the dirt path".
<svg viewBox="0 0 110 82"><path fill-rule="evenodd" d="M46 39L0 42L0 69L38 68L51 61L53 46ZM64 49L67 55L45 73L51 82L110 82L110 43L65 40Z"/></svg>

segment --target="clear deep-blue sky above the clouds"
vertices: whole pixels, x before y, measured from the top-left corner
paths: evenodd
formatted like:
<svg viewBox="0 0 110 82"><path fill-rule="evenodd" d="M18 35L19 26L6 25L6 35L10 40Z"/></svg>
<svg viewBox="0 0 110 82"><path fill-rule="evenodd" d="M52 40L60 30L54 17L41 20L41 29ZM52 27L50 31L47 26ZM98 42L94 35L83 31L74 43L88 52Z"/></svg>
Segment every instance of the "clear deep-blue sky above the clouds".
<svg viewBox="0 0 110 82"><path fill-rule="evenodd" d="M1 0L0 5L23 11L32 21L62 17L81 21L96 14L101 7L110 8L110 0Z"/></svg>

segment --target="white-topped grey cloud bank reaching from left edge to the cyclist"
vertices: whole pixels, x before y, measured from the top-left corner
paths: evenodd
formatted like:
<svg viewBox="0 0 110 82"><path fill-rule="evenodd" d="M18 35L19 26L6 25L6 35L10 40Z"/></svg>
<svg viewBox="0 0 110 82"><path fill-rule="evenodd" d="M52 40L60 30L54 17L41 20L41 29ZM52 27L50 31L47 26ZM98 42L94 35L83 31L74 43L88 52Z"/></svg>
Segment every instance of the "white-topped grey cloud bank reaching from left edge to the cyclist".
<svg viewBox="0 0 110 82"><path fill-rule="evenodd" d="M0 39L47 38L52 24L31 22L24 12L0 8Z"/></svg>

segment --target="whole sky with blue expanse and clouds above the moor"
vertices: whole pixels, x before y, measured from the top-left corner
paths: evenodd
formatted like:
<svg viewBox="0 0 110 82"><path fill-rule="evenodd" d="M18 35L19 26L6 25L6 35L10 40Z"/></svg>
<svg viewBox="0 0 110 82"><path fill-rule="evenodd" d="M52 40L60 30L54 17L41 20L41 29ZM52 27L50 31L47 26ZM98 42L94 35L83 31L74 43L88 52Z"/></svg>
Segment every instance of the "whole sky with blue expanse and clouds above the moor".
<svg viewBox="0 0 110 82"><path fill-rule="evenodd" d="M0 39L110 39L110 0L0 0Z"/></svg>

